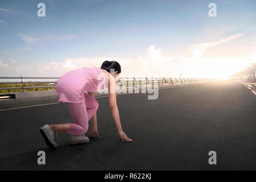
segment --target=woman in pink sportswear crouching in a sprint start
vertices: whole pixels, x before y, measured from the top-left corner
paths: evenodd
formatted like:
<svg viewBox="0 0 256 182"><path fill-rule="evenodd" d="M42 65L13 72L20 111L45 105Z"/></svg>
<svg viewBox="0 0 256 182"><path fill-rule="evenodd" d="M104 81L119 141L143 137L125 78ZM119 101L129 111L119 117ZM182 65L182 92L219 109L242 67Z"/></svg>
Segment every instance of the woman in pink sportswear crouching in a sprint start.
<svg viewBox="0 0 256 182"><path fill-rule="evenodd" d="M111 75L111 71L115 72ZM116 124L117 131L122 141L132 141L121 128L119 110L116 104L116 81L121 73L120 64L116 61L104 61L101 68L80 68L67 72L60 77L56 92L59 94L59 102L67 102L68 109L74 118L75 123L59 125L44 125L40 128L40 133L50 148L56 148L54 141L57 132L70 134L70 144L80 144L90 142L88 137L97 135L96 111L99 103L95 100L94 92L100 92L108 87L109 107ZM88 94L84 93L84 90ZM84 133L88 130L88 121L92 121L92 131L86 137ZM102 137L100 137L102 138Z"/></svg>

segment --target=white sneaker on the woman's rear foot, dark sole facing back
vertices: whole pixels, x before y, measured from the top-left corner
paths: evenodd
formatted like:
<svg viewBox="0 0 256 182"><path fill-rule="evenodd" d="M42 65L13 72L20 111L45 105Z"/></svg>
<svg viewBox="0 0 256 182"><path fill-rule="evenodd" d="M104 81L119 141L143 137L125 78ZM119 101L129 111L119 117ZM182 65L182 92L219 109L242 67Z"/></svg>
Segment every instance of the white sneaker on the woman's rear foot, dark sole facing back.
<svg viewBox="0 0 256 182"><path fill-rule="evenodd" d="M44 125L43 127L40 127L40 133L42 134L48 147L57 148L57 143L54 141L54 135L56 135L57 133L52 131L49 125ZM57 135L56 138L58 139Z"/></svg>

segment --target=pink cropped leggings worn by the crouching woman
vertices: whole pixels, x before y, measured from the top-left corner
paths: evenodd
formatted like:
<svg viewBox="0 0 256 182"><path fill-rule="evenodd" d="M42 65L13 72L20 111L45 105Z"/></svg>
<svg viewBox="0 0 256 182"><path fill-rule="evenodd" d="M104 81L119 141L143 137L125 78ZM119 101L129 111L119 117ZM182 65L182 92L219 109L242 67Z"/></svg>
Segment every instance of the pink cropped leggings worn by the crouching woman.
<svg viewBox="0 0 256 182"><path fill-rule="evenodd" d="M96 114L99 103L94 97L84 93L86 102L76 104L67 102L68 109L75 120L75 123L67 123L70 129L67 133L72 135L82 135L88 130L88 121Z"/></svg>

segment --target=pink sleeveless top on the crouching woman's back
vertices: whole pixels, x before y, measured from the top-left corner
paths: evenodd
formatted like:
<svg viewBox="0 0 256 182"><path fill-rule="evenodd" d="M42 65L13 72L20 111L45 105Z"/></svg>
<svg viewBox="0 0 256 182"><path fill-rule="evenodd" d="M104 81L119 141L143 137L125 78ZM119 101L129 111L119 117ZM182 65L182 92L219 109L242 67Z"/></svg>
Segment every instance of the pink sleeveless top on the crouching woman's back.
<svg viewBox="0 0 256 182"><path fill-rule="evenodd" d="M101 68L79 68L60 77L56 92L59 102L83 103L84 91L100 92L106 87L105 75Z"/></svg>

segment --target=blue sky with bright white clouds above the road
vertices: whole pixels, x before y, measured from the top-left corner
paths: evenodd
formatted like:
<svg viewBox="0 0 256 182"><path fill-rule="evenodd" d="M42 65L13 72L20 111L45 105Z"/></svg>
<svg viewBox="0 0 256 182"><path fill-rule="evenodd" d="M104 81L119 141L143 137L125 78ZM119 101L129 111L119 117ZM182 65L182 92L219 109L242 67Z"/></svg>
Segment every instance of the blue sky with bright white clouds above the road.
<svg viewBox="0 0 256 182"><path fill-rule="evenodd" d="M225 78L256 61L256 1L1 0L0 35L0 76L61 76L116 60L124 75Z"/></svg>

